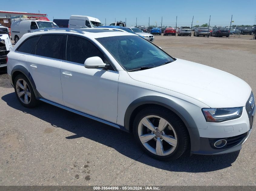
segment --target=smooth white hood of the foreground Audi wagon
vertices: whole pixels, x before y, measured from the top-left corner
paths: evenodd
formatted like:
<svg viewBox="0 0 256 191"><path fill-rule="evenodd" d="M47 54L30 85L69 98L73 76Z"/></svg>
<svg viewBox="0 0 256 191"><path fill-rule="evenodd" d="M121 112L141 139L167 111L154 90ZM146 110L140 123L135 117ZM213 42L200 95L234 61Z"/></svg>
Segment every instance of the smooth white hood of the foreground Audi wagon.
<svg viewBox="0 0 256 191"><path fill-rule="evenodd" d="M251 87L240 78L182 59L128 74L134 80L187 95L212 108L245 106L251 94Z"/></svg>

